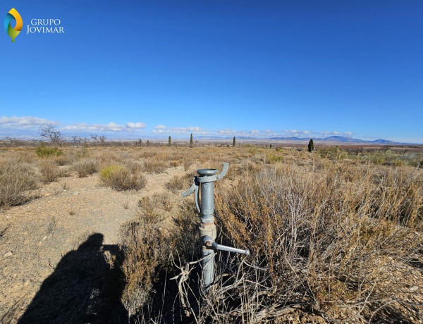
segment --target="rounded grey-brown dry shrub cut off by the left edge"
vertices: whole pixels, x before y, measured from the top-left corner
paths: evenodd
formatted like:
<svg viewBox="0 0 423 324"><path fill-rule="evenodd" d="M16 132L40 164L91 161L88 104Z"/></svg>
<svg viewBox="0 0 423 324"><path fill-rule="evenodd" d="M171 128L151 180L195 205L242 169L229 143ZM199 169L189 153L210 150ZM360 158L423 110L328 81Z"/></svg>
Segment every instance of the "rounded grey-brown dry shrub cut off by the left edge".
<svg viewBox="0 0 423 324"><path fill-rule="evenodd" d="M37 188L34 170L15 159L0 160L0 208L9 208L30 201Z"/></svg>

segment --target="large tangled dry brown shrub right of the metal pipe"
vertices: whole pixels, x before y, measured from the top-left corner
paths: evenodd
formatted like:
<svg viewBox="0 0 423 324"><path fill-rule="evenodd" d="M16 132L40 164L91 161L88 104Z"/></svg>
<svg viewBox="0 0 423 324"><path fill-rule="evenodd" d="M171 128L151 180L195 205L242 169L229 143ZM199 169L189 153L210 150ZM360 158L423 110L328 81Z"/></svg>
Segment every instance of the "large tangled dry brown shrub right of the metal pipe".
<svg viewBox="0 0 423 324"><path fill-rule="evenodd" d="M223 241L251 249L252 256L219 263L220 280L202 318L258 323L301 308L326 320L384 321L393 313L410 320L411 293L396 270L400 264L404 273L412 271L407 258L423 241L398 223L421 220L423 178L388 170L388 180L396 181L378 177L378 183L375 172L281 165L221 194L216 208Z"/></svg>

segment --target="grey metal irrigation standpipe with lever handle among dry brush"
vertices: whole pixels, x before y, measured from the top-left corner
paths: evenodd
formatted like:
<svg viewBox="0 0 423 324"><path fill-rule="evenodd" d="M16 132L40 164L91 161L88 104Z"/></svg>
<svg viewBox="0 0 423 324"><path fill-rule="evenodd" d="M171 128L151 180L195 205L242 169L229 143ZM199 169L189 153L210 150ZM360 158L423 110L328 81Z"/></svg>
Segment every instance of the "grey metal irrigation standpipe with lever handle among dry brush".
<svg viewBox="0 0 423 324"><path fill-rule="evenodd" d="M249 250L235 249L226 247L214 242L216 239L216 225L214 225L214 182L221 180L228 172L229 163L223 163L223 170L217 175L217 169L198 169L197 177L194 177L194 183L185 192L182 197L188 197L195 194L195 205L197 211L201 214L200 224L200 242L202 243L202 278L204 290L208 290L214 280L214 251L230 251L240 254L250 255ZM201 187L201 201L200 201Z"/></svg>

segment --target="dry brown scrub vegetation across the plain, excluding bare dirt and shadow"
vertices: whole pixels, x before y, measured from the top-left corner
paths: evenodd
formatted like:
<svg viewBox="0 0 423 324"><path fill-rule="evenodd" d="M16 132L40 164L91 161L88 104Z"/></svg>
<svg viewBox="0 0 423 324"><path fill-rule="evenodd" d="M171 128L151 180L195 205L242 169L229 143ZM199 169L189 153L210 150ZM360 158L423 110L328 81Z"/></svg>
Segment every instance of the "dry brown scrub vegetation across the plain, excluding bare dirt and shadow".
<svg viewBox="0 0 423 324"><path fill-rule="evenodd" d="M37 204L50 182L66 189L66 177L139 196L109 260L120 273L111 281L134 322L422 323L422 154L329 147L312 154L259 147L42 147L37 153L0 151L0 218L18 205ZM220 169L224 161L231 165L216 183L218 239L252 254L219 252L216 282L204 296L199 218L192 197L178 195L196 168ZM162 190L146 194L149 185ZM0 244L13 237L3 224ZM5 321L13 318L2 311Z"/></svg>

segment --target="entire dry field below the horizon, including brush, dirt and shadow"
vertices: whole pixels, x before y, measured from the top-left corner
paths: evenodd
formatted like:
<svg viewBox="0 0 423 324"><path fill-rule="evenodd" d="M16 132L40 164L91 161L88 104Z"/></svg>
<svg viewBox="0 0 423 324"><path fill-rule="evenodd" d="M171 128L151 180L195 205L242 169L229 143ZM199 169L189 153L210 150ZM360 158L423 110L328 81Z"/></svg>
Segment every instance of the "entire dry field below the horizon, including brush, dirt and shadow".
<svg viewBox="0 0 423 324"><path fill-rule="evenodd" d="M221 168L198 264L197 168ZM244 147L0 149L0 323L422 323L423 156Z"/></svg>

